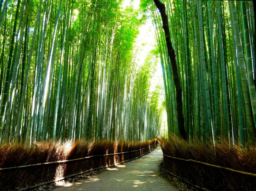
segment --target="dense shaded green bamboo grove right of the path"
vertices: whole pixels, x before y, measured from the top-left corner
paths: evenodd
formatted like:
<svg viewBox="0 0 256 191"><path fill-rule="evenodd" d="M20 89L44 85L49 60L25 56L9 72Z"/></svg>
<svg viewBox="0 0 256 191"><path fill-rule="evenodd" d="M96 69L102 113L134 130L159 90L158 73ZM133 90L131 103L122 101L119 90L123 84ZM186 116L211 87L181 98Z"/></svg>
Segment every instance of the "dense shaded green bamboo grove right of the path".
<svg viewBox="0 0 256 191"><path fill-rule="evenodd" d="M252 1L166 0L182 84L189 141L255 142L256 91ZM161 16L151 1L165 84L169 133L178 134L175 88Z"/></svg>

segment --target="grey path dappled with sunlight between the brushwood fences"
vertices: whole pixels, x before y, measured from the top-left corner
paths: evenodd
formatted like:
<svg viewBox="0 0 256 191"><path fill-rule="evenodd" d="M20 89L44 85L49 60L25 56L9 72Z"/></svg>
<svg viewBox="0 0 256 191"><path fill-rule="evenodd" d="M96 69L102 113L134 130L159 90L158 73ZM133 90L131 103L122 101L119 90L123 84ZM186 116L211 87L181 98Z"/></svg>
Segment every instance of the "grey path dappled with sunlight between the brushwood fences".
<svg viewBox="0 0 256 191"><path fill-rule="evenodd" d="M143 157L110 168L98 175L66 184L56 191L177 191L167 180L158 176L158 165L162 162L163 153L158 146L153 152Z"/></svg>

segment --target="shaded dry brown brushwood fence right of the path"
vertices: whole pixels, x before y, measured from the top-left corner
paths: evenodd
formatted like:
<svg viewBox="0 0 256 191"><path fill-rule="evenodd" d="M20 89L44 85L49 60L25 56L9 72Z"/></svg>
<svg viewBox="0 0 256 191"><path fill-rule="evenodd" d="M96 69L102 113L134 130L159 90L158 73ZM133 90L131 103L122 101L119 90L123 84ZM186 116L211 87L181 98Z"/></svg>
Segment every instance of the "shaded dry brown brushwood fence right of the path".
<svg viewBox="0 0 256 191"><path fill-rule="evenodd" d="M245 149L229 147L227 142L202 144L188 142L178 137L159 138L163 153L172 157L193 159L256 173L256 147ZM241 175L202 164L164 157L164 168L197 186L209 190L256 190L256 177Z"/></svg>

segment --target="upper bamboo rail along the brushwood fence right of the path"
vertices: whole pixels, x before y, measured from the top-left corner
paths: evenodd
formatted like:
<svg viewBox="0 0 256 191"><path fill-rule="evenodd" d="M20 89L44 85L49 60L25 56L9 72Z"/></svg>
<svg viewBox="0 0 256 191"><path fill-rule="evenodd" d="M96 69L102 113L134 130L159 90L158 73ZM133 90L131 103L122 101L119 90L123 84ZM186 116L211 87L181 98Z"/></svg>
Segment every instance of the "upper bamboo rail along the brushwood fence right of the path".
<svg viewBox="0 0 256 191"><path fill-rule="evenodd" d="M239 174L242 174L242 175L248 175L248 176L254 176L254 177L256 177L256 174L255 174L255 173L251 173L251 172L238 171L238 170L235 170L235 169L232 169L232 168L221 167L221 166L219 166L219 165L204 163L204 162L197 161L197 160L193 160L193 159L184 159L184 158L172 157L172 156L168 156L168 155L166 155L166 154L163 154L163 156L166 156L166 157L169 157L169 158L174 158L174 159L181 160L181 161L187 161L187 162L193 162L193 163L204 164L204 165L209 166L209 167L214 167L214 168L219 168L219 169L225 169L225 170L227 170L227 171L236 172L236 173L239 173ZM1 170L1 169L0 169L0 170Z"/></svg>

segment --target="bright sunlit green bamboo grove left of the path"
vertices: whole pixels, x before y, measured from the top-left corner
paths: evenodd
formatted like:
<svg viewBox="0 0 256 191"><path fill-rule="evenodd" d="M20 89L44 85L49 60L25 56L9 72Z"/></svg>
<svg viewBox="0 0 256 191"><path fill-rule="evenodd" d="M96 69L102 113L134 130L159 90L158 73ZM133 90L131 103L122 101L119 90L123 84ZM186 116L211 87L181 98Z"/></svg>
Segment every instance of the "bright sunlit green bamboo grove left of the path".
<svg viewBox="0 0 256 191"><path fill-rule="evenodd" d="M120 4L1 0L1 143L159 135L157 93L133 62L144 17Z"/></svg>

